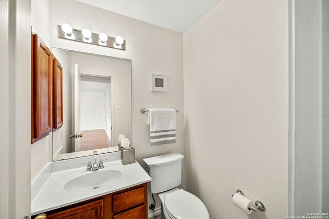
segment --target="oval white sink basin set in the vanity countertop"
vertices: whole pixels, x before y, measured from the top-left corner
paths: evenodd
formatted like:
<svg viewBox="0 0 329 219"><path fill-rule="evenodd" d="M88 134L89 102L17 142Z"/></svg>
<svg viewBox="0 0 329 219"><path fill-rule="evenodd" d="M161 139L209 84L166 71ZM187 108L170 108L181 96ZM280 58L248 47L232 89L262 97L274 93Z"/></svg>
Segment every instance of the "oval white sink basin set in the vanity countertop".
<svg viewBox="0 0 329 219"><path fill-rule="evenodd" d="M64 189L68 192L84 192L107 186L119 180L122 173L118 170L89 171L68 181Z"/></svg>

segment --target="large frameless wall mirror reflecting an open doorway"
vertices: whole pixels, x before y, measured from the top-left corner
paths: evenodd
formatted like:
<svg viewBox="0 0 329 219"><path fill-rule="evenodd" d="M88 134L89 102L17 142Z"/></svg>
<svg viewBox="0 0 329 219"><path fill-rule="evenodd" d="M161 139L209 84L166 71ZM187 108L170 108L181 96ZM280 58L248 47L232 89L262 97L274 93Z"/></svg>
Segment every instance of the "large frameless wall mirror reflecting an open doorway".
<svg viewBox="0 0 329 219"><path fill-rule="evenodd" d="M132 142L131 60L52 48L63 68L63 125L52 132L53 161L119 150Z"/></svg>

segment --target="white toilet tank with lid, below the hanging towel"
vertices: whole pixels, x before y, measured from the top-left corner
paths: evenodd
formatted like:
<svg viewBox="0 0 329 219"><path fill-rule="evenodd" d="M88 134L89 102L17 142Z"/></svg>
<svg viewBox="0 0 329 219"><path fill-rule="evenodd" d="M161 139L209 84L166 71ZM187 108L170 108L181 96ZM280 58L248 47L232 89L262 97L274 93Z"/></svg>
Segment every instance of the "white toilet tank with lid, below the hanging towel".
<svg viewBox="0 0 329 219"><path fill-rule="evenodd" d="M149 183L151 193L164 192L181 184L181 161L184 156L179 153L171 153L145 158L149 175L152 181Z"/></svg>

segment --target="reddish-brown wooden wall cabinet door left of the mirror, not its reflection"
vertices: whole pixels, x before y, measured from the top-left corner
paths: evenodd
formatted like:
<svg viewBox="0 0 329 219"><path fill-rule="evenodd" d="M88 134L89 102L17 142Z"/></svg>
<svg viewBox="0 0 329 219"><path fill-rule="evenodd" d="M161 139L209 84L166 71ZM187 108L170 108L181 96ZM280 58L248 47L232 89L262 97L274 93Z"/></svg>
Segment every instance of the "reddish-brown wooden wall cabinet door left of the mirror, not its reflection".
<svg viewBox="0 0 329 219"><path fill-rule="evenodd" d="M31 72L31 143L52 129L51 52L38 35L33 35L33 71Z"/></svg>

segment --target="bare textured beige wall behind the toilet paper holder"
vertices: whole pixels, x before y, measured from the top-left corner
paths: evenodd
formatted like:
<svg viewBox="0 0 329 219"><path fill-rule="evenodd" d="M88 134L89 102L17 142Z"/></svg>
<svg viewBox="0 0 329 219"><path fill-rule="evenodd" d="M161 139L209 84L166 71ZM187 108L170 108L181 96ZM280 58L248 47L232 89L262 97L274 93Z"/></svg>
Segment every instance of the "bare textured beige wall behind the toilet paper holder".
<svg viewBox="0 0 329 219"><path fill-rule="evenodd" d="M223 0L184 33L186 188L211 218L288 213L288 2ZM241 189L267 210L232 204Z"/></svg>

